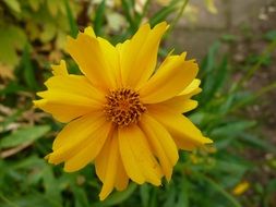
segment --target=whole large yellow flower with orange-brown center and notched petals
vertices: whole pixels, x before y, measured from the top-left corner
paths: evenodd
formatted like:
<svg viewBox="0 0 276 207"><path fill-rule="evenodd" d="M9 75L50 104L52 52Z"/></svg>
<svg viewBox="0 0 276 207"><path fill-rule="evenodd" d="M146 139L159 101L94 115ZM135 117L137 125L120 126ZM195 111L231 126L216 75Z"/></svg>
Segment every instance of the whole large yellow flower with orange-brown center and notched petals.
<svg viewBox="0 0 276 207"><path fill-rule="evenodd" d="M50 163L64 162L73 172L94 162L105 199L129 179L143 184L169 181L178 149L192 150L204 137L183 112L197 105L197 64L185 53L169 54L156 69L163 22L148 24L116 47L96 37L92 27L69 37L67 50L83 75L68 74L65 62L52 66L53 76L38 93L35 106L60 122L69 122L53 142Z"/></svg>

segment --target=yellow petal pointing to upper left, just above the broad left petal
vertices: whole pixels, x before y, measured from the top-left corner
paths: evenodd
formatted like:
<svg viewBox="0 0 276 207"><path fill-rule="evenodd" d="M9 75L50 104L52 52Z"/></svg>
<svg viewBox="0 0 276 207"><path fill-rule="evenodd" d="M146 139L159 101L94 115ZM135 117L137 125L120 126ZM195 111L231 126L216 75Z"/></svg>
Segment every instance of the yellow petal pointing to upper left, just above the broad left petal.
<svg viewBox="0 0 276 207"><path fill-rule="evenodd" d="M97 88L105 92L108 88L116 87L116 80L108 69L107 59L105 58L98 40L89 35L80 33L76 39L68 38L67 51L79 64L81 71Z"/></svg>

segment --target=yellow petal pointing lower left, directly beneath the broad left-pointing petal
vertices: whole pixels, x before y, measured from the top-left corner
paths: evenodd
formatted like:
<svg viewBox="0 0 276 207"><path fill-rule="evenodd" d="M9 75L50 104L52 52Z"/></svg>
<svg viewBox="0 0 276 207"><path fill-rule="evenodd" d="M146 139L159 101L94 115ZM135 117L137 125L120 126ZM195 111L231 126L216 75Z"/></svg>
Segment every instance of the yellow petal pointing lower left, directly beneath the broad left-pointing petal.
<svg viewBox="0 0 276 207"><path fill-rule="evenodd" d="M58 165L69 160L93 141L98 130L107 127L101 112L93 112L70 122L55 139L49 162Z"/></svg>

